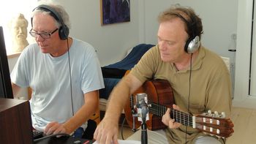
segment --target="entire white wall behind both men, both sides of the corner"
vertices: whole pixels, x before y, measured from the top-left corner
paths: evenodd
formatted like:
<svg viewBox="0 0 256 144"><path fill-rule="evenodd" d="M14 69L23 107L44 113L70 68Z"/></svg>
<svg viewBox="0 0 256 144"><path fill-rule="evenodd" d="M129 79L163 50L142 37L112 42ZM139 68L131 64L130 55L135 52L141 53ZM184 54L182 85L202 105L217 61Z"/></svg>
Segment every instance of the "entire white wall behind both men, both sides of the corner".
<svg viewBox="0 0 256 144"><path fill-rule="evenodd" d="M98 53L102 66L123 58L127 49L138 43L157 42L157 15L171 4L179 3L195 9L203 19L203 45L234 61L228 52L230 35L236 33L238 0L130 0L131 21L107 26L100 24L99 1L56 0L69 13L72 28L70 36L91 43ZM227 10L228 8L228 10Z"/></svg>

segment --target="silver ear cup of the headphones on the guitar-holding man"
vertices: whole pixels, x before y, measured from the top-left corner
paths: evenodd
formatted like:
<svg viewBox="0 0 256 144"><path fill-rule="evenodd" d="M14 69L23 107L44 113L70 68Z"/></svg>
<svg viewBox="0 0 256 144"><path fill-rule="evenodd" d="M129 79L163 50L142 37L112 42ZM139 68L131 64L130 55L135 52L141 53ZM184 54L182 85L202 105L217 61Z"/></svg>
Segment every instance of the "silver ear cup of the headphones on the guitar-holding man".
<svg viewBox="0 0 256 144"><path fill-rule="evenodd" d="M195 53L195 51L200 47L200 38L196 36L195 38L189 38L185 45L185 51L187 53Z"/></svg>

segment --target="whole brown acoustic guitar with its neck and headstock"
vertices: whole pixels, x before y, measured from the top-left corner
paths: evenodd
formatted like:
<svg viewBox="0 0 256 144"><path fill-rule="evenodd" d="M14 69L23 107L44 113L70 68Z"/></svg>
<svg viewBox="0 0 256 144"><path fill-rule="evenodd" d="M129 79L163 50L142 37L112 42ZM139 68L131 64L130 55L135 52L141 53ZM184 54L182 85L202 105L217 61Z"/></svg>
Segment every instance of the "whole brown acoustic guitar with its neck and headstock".
<svg viewBox="0 0 256 144"><path fill-rule="evenodd" d="M148 129L157 130L164 129L167 126L162 123L162 115L165 114L167 107L170 108L170 118L184 126L190 126L208 134L216 135L217 137L230 137L233 134L233 123L230 118L225 118L225 114L203 113L201 115L191 115L179 110L174 110L173 90L167 80L149 80L141 86L138 91L135 91L130 96L129 102L124 107L125 118L128 125L138 129L141 122L137 117L132 117L132 111L136 110L135 95L138 93L146 93L148 96L148 113L149 120L146 121ZM135 126L133 126L133 118Z"/></svg>

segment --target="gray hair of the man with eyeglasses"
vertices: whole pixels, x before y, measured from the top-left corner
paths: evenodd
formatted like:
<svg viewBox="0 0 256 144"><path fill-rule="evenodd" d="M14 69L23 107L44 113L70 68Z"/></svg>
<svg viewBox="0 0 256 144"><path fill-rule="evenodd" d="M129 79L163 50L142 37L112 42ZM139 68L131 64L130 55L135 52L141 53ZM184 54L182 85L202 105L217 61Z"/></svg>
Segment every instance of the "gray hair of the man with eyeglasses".
<svg viewBox="0 0 256 144"><path fill-rule="evenodd" d="M48 7L51 7L53 10L55 10L56 12L59 13L59 16L61 17L61 19L63 20L64 25L66 25L69 29L71 28L71 24L70 24L70 20L69 20L69 15L67 14L66 10L64 9L64 7L61 6L61 4L56 3L55 1L39 1L37 4L37 7L39 5L46 5ZM34 15L36 15L37 13L42 13L45 15L51 15L53 16L54 14L52 14L52 12L49 11L45 11L42 9L37 9L37 7L33 10L31 18L34 17ZM56 21L56 27L60 27L61 23L59 23L59 20L56 20L56 17L53 16L54 20ZM32 21L31 21L32 23Z"/></svg>

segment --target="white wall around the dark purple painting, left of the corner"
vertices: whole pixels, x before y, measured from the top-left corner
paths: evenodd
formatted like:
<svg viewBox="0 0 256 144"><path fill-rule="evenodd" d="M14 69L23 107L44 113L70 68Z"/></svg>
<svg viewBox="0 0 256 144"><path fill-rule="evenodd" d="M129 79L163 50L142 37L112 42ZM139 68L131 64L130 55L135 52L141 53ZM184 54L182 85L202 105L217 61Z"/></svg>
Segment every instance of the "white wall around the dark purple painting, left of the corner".
<svg viewBox="0 0 256 144"><path fill-rule="evenodd" d="M138 1L130 0L130 22L101 26L99 0L58 0L69 13L70 35L91 43L102 66L124 57L129 48L139 43Z"/></svg>

